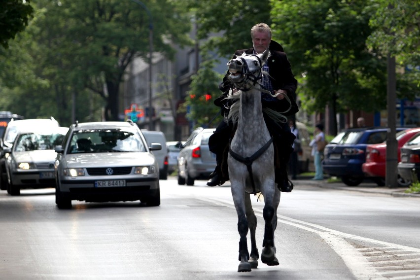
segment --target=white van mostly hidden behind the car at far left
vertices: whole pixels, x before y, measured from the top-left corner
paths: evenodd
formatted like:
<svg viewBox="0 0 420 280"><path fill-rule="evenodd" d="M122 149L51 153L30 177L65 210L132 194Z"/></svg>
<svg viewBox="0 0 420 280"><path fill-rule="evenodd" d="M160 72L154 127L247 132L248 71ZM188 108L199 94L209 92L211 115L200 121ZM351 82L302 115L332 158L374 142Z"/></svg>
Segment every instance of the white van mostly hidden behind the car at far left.
<svg viewBox="0 0 420 280"><path fill-rule="evenodd" d="M8 153L4 149L12 148L13 141L22 130L36 130L49 127L60 127L60 124L53 117L49 119L11 119L9 121L0 139L0 189L5 190L7 188L7 173L5 168Z"/></svg>

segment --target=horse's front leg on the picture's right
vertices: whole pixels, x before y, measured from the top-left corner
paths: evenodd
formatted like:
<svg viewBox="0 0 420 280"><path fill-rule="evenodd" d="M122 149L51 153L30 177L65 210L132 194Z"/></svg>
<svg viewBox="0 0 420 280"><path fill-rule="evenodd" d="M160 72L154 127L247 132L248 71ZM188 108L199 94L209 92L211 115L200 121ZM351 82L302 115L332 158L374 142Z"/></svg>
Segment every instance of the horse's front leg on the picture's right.
<svg viewBox="0 0 420 280"><path fill-rule="evenodd" d="M276 247L274 246L274 224L273 219L276 217L277 223L277 206L274 206L275 198L278 196L276 186L273 180L268 180L264 183L264 201L265 206L263 210L264 225L264 239L263 249L261 252L261 261L267 265L279 265L276 258ZM280 197L279 197L280 201ZM277 224L276 224L277 226Z"/></svg>

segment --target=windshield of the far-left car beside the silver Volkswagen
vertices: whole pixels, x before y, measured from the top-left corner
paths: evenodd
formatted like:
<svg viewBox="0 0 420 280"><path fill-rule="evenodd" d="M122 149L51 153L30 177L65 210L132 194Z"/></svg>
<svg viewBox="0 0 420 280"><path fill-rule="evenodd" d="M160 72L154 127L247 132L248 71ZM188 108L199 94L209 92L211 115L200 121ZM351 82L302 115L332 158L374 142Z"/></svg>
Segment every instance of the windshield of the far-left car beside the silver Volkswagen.
<svg viewBox="0 0 420 280"><path fill-rule="evenodd" d="M53 150L61 145L64 134L61 133L27 133L19 135L15 144L15 151Z"/></svg>

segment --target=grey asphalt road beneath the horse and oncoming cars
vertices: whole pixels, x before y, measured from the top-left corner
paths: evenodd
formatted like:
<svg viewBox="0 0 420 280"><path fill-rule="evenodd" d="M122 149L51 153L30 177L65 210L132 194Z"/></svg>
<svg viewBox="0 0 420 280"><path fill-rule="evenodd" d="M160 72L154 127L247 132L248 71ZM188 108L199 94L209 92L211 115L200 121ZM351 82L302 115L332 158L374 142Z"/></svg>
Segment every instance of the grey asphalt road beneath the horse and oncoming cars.
<svg viewBox="0 0 420 280"><path fill-rule="evenodd" d="M1 191L0 279L420 279L420 198L297 182L278 211L280 265L238 273L229 185L160 182L159 207L73 201L59 210L54 189ZM252 203L261 252L263 203Z"/></svg>

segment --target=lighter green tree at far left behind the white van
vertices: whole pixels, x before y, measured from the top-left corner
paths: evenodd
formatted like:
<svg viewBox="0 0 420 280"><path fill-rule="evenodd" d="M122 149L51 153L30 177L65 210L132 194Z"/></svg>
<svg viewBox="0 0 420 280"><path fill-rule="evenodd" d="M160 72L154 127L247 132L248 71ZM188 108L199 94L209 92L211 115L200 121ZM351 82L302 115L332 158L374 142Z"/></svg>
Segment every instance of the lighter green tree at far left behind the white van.
<svg viewBox="0 0 420 280"><path fill-rule="evenodd" d="M48 73L60 72L54 64L46 63L45 45L38 43L38 20L45 9L36 9L25 32L16 35L9 48L0 48L0 110L12 111L26 118L49 118L54 116L61 125L69 126L71 120L72 84L64 79L54 79ZM66 76L64 73L63 77ZM75 97L78 106L75 115L79 120L99 120L101 108L86 90ZM96 118L91 115L96 114Z"/></svg>

